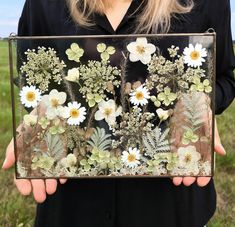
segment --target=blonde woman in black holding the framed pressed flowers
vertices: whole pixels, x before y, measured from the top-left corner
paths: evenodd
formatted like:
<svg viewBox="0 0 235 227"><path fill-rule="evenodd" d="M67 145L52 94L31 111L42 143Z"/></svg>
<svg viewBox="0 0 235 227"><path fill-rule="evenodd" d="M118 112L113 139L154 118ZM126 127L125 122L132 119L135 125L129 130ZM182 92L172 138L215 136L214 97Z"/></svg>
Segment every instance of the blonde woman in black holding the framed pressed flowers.
<svg viewBox="0 0 235 227"><path fill-rule="evenodd" d="M229 0L27 0L20 36L101 35L147 32L217 32L216 113L235 95L235 67ZM216 130L215 151L225 151ZM4 169L14 163L8 146ZM64 180L60 180L65 183ZM202 227L216 207L209 178L15 180L23 195L31 191L39 203L39 227ZM185 186L188 187L185 187ZM57 189L57 190L56 190ZM47 196L47 194L51 196ZM52 195L53 194L53 195Z"/></svg>

